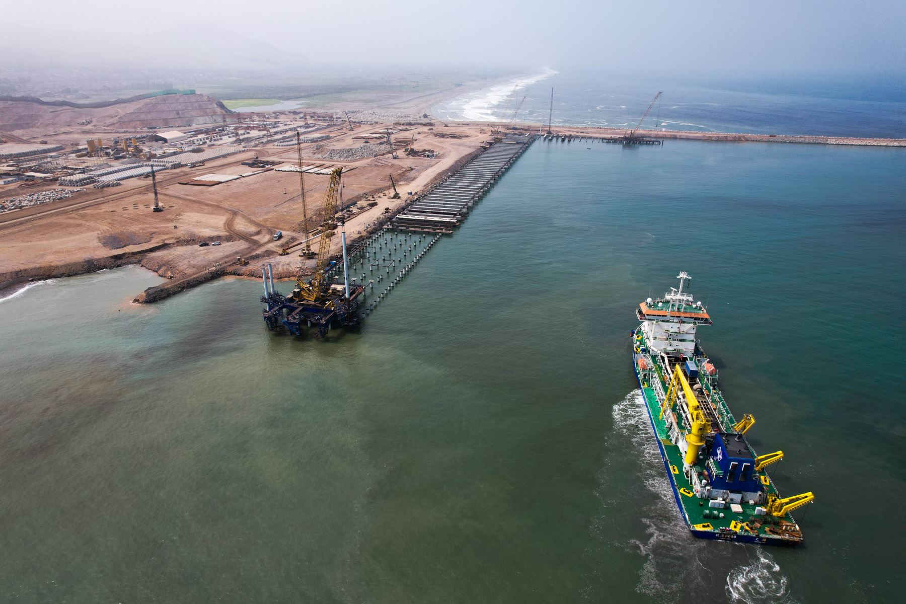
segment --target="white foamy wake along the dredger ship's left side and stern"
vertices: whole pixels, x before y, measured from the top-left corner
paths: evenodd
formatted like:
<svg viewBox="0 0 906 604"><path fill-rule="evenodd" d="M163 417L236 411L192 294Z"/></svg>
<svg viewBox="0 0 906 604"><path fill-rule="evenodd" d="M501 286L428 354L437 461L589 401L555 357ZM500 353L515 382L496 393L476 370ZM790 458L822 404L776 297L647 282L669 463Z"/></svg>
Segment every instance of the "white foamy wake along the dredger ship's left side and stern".
<svg viewBox="0 0 906 604"><path fill-rule="evenodd" d="M631 540L629 545L645 556L636 590L662 601L679 601L689 593L708 593L719 589L709 560L727 553L727 548L754 551L756 558L730 570L726 590L730 601L737 604L793 604L787 579L780 567L760 546L709 542L693 537L679 517L670 479L664 471L657 441L645 410L641 390L633 390L612 407L613 428L617 443L629 440L629 454L641 461L640 478L653 498L631 496L639 502L641 522L647 541ZM646 502L651 503L646 503Z"/></svg>

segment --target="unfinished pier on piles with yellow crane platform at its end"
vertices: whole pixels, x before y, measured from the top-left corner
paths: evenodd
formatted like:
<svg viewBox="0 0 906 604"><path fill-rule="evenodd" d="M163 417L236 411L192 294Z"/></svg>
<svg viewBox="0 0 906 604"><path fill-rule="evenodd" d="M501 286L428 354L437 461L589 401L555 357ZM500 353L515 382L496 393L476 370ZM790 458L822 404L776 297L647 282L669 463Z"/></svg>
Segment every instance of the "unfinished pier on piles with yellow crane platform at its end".
<svg viewBox="0 0 906 604"><path fill-rule="evenodd" d="M358 329L441 235L452 233L465 220L477 200L535 139L535 135L525 134L499 137L483 153L412 200L388 225L350 249L342 233L338 260L329 258L330 238L338 226L333 222L333 208L342 191L342 170L334 170L311 279L297 277L293 292L284 296L276 290L271 265L262 268L265 295L261 302L267 328L319 339L334 326Z"/></svg>

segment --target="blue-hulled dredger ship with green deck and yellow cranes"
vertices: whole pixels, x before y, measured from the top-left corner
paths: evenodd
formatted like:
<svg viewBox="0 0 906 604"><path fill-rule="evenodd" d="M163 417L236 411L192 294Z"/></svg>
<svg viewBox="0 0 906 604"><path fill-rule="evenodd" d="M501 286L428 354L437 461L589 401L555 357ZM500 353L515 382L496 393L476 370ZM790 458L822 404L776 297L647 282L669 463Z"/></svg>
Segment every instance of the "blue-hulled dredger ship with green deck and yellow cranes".
<svg viewBox="0 0 906 604"><path fill-rule="evenodd" d="M701 302L679 288L636 309L633 366L645 399L673 497L695 536L722 541L795 545L803 534L792 512L814 501L805 493L782 498L767 467L783 451L757 455L746 440L755 418L737 421L718 388L718 370L696 340L710 325Z"/></svg>

